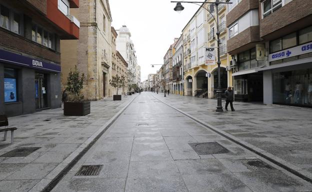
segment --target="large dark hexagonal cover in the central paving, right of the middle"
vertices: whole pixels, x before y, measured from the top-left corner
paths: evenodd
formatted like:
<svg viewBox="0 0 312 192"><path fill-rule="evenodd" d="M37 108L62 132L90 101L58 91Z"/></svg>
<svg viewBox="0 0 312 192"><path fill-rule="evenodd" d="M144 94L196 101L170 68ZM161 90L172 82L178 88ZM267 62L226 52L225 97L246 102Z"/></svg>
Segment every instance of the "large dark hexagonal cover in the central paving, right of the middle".
<svg viewBox="0 0 312 192"><path fill-rule="evenodd" d="M228 153L228 150L216 142L188 143L198 155Z"/></svg>

